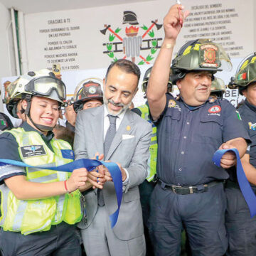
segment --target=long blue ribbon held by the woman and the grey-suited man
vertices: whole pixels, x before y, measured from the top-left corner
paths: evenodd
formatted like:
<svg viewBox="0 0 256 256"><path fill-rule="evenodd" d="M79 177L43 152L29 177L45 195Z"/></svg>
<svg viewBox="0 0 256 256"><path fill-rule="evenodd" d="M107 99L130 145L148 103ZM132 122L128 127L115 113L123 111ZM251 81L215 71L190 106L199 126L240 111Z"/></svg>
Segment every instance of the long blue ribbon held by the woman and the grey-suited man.
<svg viewBox="0 0 256 256"><path fill-rule="evenodd" d="M119 166L115 163L98 161L93 159L78 159L68 164L63 164L61 166L31 166L29 164L25 164L21 161L9 160L9 159L0 159L0 166L4 164L12 164L15 166L21 167L30 167L30 168L39 168L39 169L48 169L53 171L66 171L72 172L75 169L86 168L87 171L92 171L99 165L105 165L107 169L110 171L114 182L114 189L117 195L117 210L110 215L111 228L117 223L117 218L119 215L119 210L122 201L122 174L119 169Z"/></svg>

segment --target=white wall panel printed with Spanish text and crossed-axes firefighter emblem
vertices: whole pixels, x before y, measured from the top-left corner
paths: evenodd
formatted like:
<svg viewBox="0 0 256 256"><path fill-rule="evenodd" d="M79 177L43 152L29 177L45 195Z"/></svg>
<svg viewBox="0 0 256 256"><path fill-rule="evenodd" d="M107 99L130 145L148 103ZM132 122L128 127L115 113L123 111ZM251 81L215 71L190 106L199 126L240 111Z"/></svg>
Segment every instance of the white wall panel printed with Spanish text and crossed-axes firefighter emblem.
<svg viewBox="0 0 256 256"><path fill-rule="evenodd" d="M125 43L122 39L130 37L129 31L127 36L125 30L132 26L139 28L136 36L137 46L142 44L140 48L134 50L135 63L144 61L144 58L146 60L144 65L153 65L164 38L164 29L157 30L159 26L156 24L163 23L166 8L169 9L171 6L169 0L159 1L161 4L157 4L157 1L143 1L25 14L28 69L51 68L52 63L58 63L58 58L69 58L68 53L78 53L78 55L73 55L75 61L70 63L63 60L60 63L61 70L71 70L70 66L73 64L81 70L107 68L115 58L126 57L131 60L133 51L130 51L131 57L126 56ZM191 11L191 14L184 22L178 36L174 55L184 43L200 37L220 43L230 58L243 58L255 50L253 0L247 0L246 4L244 0L183 0L182 4L185 9ZM124 11L128 10L136 14L135 23L138 24L130 24L128 19L125 20L127 23L124 23ZM132 17L132 13L128 16ZM149 31L146 28L150 28ZM139 36L142 36L142 43ZM128 48L125 50L130 50ZM67 55L56 57L56 54ZM45 55L54 55L54 57L45 58Z"/></svg>

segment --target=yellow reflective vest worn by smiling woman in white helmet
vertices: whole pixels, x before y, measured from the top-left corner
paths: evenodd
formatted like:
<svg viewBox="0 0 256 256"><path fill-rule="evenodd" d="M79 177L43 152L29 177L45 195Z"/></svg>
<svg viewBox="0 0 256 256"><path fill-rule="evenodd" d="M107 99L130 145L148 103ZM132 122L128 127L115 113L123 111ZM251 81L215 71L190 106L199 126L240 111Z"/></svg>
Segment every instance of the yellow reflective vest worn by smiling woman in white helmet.
<svg viewBox="0 0 256 256"><path fill-rule="evenodd" d="M60 139L51 139L51 151L38 132L26 132L23 128L11 129L18 143L21 160L31 166L68 164L73 161L70 144ZM67 153L70 157L67 157ZM26 179L31 182L51 183L65 181L71 174L64 171L51 171L26 168ZM63 185L64 186L64 185ZM51 225L65 221L70 225L82 219L80 191L65 193L37 200L18 200L4 184L1 190L1 222L5 231L21 232L23 235L50 230Z"/></svg>

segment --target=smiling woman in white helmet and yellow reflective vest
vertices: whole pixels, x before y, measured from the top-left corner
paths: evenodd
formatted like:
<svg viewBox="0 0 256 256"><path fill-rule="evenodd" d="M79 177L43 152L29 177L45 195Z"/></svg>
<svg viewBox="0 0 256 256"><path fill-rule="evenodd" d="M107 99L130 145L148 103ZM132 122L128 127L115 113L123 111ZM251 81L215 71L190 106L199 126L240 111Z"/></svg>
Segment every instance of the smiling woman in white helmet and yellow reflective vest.
<svg viewBox="0 0 256 256"><path fill-rule="evenodd" d="M26 114L26 122L0 135L4 149L0 150L0 159L23 161L30 166L59 166L73 161L70 144L54 139L52 132L65 100L65 84L49 70L41 70L21 76L10 86L10 99L6 101L22 99L21 111ZM85 168L65 173L1 166L3 255L19 255L24 251L31 255L80 255L80 238L74 224L82 219L78 188L89 188L86 181ZM58 234L54 226L58 226ZM15 247L11 246L14 241Z"/></svg>

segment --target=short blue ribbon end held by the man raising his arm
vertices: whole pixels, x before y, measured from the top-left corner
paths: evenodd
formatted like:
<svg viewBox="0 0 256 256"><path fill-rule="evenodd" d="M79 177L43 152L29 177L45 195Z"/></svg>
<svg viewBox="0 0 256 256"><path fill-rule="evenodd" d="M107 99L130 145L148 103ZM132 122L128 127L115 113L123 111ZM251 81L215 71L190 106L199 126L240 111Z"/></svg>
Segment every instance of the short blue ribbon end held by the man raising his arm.
<svg viewBox="0 0 256 256"><path fill-rule="evenodd" d="M213 162L215 165L220 167L220 159L228 151L233 151L237 158L237 176L242 196L244 196L247 206L250 209L251 218L256 214L256 196L252 191L249 181L245 176L245 171L242 169L242 163L238 153L238 149L220 149L215 151L213 155Z"/></svg>

